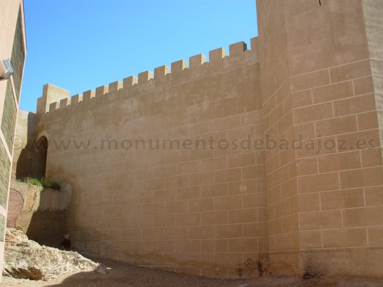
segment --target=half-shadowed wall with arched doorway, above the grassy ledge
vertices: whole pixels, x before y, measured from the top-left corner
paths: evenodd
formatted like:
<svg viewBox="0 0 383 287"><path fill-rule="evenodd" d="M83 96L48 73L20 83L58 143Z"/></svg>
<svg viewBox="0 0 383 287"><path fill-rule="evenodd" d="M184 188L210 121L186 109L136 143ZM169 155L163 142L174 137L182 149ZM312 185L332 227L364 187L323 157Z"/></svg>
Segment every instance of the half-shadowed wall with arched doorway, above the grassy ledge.
<svg viewBox="0 0 383 287"><path fill-rule="evenodd" d="M15 136L15 154L13 157L12 178L41 179L45 176L47 148L46 145L36 150L33 139L37 132L37 115L20 110ZM44 138L46 141L46 138ZM47 142L46 142L47 144Z"/></svg>

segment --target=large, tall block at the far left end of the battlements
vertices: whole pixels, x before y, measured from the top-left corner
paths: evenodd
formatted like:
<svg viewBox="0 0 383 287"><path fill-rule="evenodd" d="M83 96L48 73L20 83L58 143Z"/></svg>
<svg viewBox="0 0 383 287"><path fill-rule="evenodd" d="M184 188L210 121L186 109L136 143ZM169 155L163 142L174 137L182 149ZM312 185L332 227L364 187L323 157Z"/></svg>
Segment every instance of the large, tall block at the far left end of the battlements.
<svg viewBox="0 0 383 287"><path fill-rule="evenodd" d="M47 113L51 103L60 102L62 99L69 98L69 96L70 91L52 84L45 84L43 86L43 96L37 99L36 113Z"/></svg>

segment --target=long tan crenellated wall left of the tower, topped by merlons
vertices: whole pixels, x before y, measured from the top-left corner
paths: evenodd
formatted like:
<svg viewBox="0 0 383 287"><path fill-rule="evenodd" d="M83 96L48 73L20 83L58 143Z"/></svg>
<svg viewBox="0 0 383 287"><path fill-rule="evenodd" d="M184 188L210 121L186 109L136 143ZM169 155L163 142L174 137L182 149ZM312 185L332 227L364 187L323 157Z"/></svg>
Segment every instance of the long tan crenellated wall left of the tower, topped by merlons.
<svg viewBox="0 0 383 287"><path fill-rule="evenodd" d="M71 99L44 86L37 138L92 140L88 150L47 152L46 176L72 191L75 248L190 274L258 276L244 261L267 257L263 151L100 150L100 139L262 138L257 38L250 42Z"/></svg>

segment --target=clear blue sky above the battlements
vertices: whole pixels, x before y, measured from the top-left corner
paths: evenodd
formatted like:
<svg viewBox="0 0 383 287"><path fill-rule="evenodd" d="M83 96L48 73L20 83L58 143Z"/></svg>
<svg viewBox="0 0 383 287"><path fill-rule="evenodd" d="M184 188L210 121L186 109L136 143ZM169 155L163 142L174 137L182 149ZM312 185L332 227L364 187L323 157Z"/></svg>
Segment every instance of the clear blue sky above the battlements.
<svg viewBox="0 0 383 287"><path fill-rule="evenodd" d="M20 108L43 85L82 93L257 36L255 0L24 0L27 57Z"/></svg>

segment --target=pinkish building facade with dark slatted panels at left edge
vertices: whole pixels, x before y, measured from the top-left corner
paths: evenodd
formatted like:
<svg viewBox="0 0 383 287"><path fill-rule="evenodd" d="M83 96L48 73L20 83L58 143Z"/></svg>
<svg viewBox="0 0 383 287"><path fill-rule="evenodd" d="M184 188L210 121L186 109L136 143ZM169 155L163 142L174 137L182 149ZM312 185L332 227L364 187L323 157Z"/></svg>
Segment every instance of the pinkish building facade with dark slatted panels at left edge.
<svg viewBox="0 0 383 287"><path fill-rule="evenodd" d="M26 56L23 1L0 1L0 60L10 59L14 73L0 81L0 268L3 266L8 190L13 156L13 140L19 109ZM1 276L1 275L0 275Z"/></svg>

